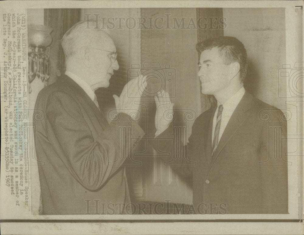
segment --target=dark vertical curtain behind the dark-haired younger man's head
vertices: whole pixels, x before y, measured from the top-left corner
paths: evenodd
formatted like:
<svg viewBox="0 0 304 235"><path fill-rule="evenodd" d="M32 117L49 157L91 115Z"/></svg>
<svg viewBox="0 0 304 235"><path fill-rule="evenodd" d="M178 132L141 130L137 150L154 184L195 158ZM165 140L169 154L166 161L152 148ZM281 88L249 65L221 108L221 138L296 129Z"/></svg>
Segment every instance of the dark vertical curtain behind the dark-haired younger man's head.
<svg viewBox="0 0 304 235"><path fill-rule="evenodd" d="M197 41L201 42L212 37L224 36L224 30L211 26L212 20L219 20L223 17L223 8L197 8L196 18L204 17L208 22L208 27L198 27ZM198 55L200 57L200 54ZM216 105L216 99L213 95L204 95L201 93L202 111L208 110L211 106Z"/></svg>

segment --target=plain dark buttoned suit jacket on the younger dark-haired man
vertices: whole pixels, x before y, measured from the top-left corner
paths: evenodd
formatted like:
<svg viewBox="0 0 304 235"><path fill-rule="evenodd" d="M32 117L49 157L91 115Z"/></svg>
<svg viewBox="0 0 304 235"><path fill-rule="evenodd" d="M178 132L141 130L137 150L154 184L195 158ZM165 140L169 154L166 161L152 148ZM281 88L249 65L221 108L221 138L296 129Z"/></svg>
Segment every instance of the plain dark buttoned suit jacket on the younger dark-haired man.
<svg viewBox="0 0 304 235"><path fill-rule="evenodd" d="M171 162L183 164L173 167L181 175L192 175L194 206L201 208L199 213L206 213L206 205L200 203L224 203L226 212L221 213L288 213L287 140L282 139L287 131L281 110L246 92L212 157L215 110L209 109L195 120L185 147L196 166L189 166L183 156ZM171 152L168 140L159 143L161 151ZM179 151L183 152L185 149Z"/></svg>

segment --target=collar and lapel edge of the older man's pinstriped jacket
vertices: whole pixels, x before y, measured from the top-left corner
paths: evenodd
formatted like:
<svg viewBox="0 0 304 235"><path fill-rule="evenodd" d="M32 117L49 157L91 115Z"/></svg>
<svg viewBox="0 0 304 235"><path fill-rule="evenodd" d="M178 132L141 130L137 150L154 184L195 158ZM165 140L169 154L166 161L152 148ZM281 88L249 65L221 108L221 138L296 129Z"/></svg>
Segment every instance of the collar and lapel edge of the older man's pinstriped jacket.
<svg viewBox="0 0 304 235"><path fill-rule="evenodd" d="M91 100L91 98L88 96L87 93L76 83L68 77L67 75L63 75L60 77L62 82L67 83L68 87L72 89L73 93L77 94L77 96L80 99L83 99L85 103L89 105L89 107L93 110L93 112L96 114L96 117L98 118L98 121L102 125L108 125L108 121L106 120L104 114L98 109L98 107L95 105L95 103Z"/></svg>

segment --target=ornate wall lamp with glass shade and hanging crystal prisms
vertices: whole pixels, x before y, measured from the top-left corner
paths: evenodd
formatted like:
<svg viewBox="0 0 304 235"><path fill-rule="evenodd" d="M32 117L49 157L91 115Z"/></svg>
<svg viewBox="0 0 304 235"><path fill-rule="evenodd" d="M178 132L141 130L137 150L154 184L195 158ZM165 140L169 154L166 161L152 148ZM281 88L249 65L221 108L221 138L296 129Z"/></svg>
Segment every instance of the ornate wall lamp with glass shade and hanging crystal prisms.
<svg viewBox="0 0 304 235"><path fill-rule="evenodd" d="M50 33L52 28L45 25L28 26L28 44L31 51L29 57L29 83L37 76L42 82L49 78L50 47L52 42ZM31 91L30 91L31 92Z"/></svg>

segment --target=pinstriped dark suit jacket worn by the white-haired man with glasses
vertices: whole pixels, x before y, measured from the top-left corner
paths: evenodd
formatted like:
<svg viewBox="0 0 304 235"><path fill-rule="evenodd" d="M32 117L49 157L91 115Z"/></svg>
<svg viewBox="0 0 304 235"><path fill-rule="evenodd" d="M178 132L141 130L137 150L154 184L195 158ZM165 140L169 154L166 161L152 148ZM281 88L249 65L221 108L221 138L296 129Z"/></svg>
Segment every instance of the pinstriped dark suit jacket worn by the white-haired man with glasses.
<svg viewBox="0 0 304 235"><path fill-rule="evenodd" d="M122 205L109 213L121 213L124 203L130 202L121 165L143 130L122 113L108 124L85 91L66 75L40 91L35 109L42 114L33 119L37 160L44 163L39 166L43 214L104 213L109 203Z"/></svg>

